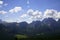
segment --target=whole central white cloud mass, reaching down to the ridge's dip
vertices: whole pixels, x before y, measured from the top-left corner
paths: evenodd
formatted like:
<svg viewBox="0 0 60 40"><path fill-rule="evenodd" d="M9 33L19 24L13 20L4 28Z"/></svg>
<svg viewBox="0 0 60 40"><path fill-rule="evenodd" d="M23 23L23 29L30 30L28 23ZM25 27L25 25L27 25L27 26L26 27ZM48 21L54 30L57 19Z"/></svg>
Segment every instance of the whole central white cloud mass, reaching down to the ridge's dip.
<svg viewBox="0 0 60 40"><path fill-rule="evenodd" d="M26 14L20 16L24 21L30 23L32 21L41 20L42 12L39 10L29 9Z"/></svg>

